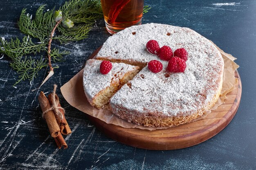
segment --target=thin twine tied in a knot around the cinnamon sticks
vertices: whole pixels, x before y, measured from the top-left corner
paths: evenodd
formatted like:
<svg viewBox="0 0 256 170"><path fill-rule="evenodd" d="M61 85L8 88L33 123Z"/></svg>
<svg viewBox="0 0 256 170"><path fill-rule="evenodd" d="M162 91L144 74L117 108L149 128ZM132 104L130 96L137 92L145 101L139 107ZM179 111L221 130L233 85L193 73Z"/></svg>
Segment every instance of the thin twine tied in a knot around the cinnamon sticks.
<svg viewBox="0 0 256 170"><path fill-rule="evenodd" d="M52 97L53 97L52 107L47 109L47 110L45 110L43 112L43 114L42 114L42 117L43 117L43 119L45 119L45 114L47 112L49 112L50 110L54 110L54 113L56 113L56 115L62 120L63 119L63 115L62 115L62 113L61 113L61 111L59 109L63 110L64 114L65 114L65 109L63 107L59 107L58 106L59 100L56 101L56 99L55 99L55 93L56 93L57 85L54 84L53 86L54 86L54 88L53 88L53 92L52 92Z"/></svg>

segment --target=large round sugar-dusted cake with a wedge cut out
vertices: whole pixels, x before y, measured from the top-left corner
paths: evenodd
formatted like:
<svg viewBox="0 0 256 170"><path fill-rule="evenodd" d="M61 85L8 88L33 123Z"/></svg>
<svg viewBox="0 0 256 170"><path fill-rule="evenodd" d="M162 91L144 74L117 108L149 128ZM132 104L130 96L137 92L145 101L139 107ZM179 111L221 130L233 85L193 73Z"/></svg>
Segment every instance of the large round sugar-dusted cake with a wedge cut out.
<svg viewBox="0 0 256 170"><path fill-rule="evenodd" d="M182 73L167 71L168 61L146 50L149 40L173 51L186 49ZM224 61L218 49L189 28L164 24L131 26L112 35L97 54L98 60L123 62L142 69L110 98L112 113L143 126L177 126L202 116L216 103L222 89ZM152 73L146 66L159 60L163 70Z"/></svg>

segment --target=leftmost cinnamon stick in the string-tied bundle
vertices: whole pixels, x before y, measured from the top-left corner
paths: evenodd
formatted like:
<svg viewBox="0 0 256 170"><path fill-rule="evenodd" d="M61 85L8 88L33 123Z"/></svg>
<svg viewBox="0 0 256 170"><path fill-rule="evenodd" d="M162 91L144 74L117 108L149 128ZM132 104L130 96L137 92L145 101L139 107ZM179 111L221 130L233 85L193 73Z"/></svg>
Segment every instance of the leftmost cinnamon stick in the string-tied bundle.
<svg viewBox="0 0 256 170"><path fill-rule="evenodd" d="M51 105L50 105L48 99L46 98L45 94L42 91L40 92L40 94L38 96L38 101L39 101L39 104L40 104L40 107L41 107L43 113L46 110L49 110L51 108ZM47 111L47 113L45 113L44 118L45 118L45 121L49 128L51 136L57 137L59 135L60 128L55 119L54 112L52 110Z"/></svg>

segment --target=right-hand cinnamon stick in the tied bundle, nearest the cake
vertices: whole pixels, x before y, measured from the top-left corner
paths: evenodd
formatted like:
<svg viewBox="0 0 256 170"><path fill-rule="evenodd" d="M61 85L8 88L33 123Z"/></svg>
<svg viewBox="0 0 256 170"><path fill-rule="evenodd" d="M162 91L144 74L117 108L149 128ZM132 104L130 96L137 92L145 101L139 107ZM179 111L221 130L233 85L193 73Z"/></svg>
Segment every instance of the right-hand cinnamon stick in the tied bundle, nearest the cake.
<svg viewBox="0 0 256 170"><path fill-rule="evenodd" d="M49 99L49 102L50 102L50 104L51 104L51 106L53 105L53 100L54 100L54 97L53 97L53 93L50 93L49 95L48 95L48 99ZM59 102L59 98L58 98L58 95L56 95L55 94L55 101L56 101L56 103L58 103L58 107L61 107L61 104L60 104L60 102ZM57 121L57 123L58 123L58 126L59 126L59 128L61 129L61 133L63 134L63 135L68 135L68 134L70 134L72 131L71 131L71 129L70 129L70 126L67 124L67 120L66 120L66 118L65 118L65 115L64 115L64 112L63 112L63 110L61 109L61 108L59 108L58 109L61 113L62 113L62 115L63 115L63 119L60 119L60 117L55 113L55 111L54 111L54 115L55 115L55 118L56 118L56 121Z"/></svg>

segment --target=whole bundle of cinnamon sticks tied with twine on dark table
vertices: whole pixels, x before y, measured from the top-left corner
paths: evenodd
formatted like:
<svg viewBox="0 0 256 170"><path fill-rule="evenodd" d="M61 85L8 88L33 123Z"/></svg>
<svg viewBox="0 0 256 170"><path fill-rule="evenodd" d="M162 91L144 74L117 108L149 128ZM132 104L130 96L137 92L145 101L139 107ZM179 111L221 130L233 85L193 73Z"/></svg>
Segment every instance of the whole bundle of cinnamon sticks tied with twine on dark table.
<svg viewBox="0 0 256 170"><path fill-rule="evenodd" d="M54 91L48 95L48 99L41 91L38 97L40 107L43 111L51 136L54 138L59 149L63 146L67 148L67 144L62 135L68 135L72 131L65 119L65 110L61 107L58 95L56 95L57 85L54 84Z"/></svg>

